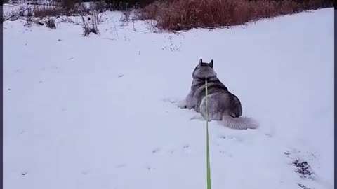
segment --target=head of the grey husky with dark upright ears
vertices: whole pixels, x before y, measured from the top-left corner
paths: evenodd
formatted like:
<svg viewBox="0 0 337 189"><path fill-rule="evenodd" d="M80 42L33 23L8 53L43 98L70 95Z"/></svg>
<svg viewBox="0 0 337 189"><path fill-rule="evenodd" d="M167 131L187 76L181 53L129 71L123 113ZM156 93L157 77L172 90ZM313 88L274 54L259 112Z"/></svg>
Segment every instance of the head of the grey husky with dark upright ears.
<svg viewBox="0 0 337 189"><path fill-rule="evenodd" d="M216 71L213 69L213 59L209 63L202 62L199 60L199 64L195 67L192 78L212 78L216 77Z"/></svg>

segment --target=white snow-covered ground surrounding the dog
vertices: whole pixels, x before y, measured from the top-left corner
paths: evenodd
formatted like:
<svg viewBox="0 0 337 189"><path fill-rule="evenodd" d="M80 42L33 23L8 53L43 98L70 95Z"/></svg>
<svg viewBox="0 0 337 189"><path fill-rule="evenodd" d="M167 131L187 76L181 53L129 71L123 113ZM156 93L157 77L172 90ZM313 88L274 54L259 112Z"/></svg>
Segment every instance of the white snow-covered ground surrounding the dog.
<svg viewBox="0 0 337 189"><path fill-rule="evenodd" d="M206 188L205 122L172 103L200 58L260 123L210 123L212 188L334 188L333 8L178 34L121 15L4 22L4 188Z"/></svg>

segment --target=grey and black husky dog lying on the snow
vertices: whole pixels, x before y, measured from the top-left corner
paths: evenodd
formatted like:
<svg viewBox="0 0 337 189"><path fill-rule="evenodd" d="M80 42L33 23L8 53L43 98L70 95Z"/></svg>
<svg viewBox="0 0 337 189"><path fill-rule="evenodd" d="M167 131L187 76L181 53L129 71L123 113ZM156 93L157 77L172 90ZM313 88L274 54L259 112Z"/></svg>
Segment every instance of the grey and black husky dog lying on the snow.
<svg viewBox="0 0 337 189"><path fill-rule="evenodd" d="M225 126L237 130L258 128L258 123L252 118L240 117L242 116L241 102L217 78L213 69L213 59L210 63L204 63L200 59L192 73L192 78L189 94L178 104L181 109L194 109L206 118L205 80L207 80L209 121L222 120Z"/></svg>

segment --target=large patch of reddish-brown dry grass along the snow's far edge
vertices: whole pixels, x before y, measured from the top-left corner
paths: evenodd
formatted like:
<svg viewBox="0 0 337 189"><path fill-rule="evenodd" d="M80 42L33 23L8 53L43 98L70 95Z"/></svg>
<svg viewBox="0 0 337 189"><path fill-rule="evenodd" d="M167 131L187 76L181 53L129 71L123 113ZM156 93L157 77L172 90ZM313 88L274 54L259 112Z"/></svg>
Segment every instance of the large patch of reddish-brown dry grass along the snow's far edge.
<svg viewBox="0 0 337 189"><path fill-rule="evenodd" d="M326 1L326 0L325 0ZM242 25L260 18L299 13L324 6L324 0L169 0L146 6L141 19L157 21L157 27L185 30L197 27Z"/></svg>

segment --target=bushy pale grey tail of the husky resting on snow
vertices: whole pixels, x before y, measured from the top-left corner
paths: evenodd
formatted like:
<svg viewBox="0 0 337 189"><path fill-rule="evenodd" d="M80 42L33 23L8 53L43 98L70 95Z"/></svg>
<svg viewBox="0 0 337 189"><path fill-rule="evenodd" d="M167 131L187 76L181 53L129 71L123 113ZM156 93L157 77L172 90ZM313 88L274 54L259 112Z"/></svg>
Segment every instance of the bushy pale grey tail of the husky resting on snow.
<svg viewBox="0 0 337 189"><path fill-rule="evenodd" d="M223 125L234 130L257 129L259 124L253 118L237 117L233 118L229 115L223 115Z"/></svg>

